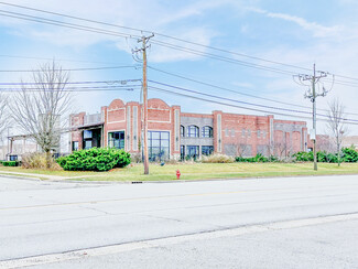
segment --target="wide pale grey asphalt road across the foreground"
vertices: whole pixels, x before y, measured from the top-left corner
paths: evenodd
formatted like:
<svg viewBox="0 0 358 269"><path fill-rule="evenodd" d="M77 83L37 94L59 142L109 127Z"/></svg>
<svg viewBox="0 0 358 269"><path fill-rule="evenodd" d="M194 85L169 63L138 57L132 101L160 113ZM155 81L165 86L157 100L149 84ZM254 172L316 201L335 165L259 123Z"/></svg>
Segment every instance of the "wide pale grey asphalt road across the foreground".
<svg viewBox="0 0 358 269"><path fill-rule="evenodd" d="M0 268L358 268L357 224L357 175L132 185L0 177Z"/></svg>

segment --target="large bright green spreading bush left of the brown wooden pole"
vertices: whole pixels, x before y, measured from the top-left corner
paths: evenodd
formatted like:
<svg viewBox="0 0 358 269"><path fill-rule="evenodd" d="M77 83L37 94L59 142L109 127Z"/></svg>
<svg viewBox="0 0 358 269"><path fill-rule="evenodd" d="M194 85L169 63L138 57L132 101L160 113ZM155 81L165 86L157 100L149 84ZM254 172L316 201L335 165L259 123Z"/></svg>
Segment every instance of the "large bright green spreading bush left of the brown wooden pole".
<svg viewBox="0 0 358 269"><path fill-rule="evenodd" d="M93 148L61 157L56 162L66 171L108 171L130 164L130 154L124 150Z"/></svg>

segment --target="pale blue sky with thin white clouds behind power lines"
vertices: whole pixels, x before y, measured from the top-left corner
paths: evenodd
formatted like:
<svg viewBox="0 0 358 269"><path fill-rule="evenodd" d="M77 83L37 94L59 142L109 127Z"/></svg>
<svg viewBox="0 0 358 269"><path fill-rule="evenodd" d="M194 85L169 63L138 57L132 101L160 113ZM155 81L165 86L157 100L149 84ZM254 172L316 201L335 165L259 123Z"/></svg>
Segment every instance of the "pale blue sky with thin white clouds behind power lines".
<svg viewBox="0 0 358 269"><path fill-rule="evenodd" d="M28 82L30 80L29 73L1 71L35 69L48 60L55 60L63 68L134 66L72 72L73 82L123 80L142 77L140 63L133 58L131 52L140 45L135 39L90 33L1 15L3 14L1 11L22 12L131 35L149 35L150 32L155 32L235 52L236 54L229 54L154 34L151 39L153 42L166 42L184 47L184 50L195 50L196 53L163 47L150 42L151 46L148 50L150 67L191 78L191 80L183 79L149 68L150 80L218 96L221 99L215 100L231 104L231 106L226 106L173 95L173 92L177 92L199 96L178 88L150 83L152 86L171 92L163 93L150 88L150 98L162 98L171 106L180 105L182 111L210 114L213 110L223 110L249 115L274 114L278 119L305 120L311 129L311 119L286 117L280 114L311 117L312 103L304 98L304 93L308 87L297 84L293 74L312 75L313 64L315 64L317 71L329 73L328 79L322 80L318 85L319 90L324 86L329 93L325 97L317 98L317 108L327 109L329 101L339 98L345 111L349 112L346 118L358 120L356 106L358 99L357 1L12 0L11 3L149 32L85 23L8 7L0 1L0 83L21 79ZM203 53L211 56L203 56ZM220 60L226 57L227 61L220 61L217 56ZM194 80L218 87L214 88ZM224 90L224 88L231 92ZM115 98L140 101L140 95L141 92L138 88L131 92L76 93L74 112L95 114L100 111L101 106L108 106ZM200 97L214 99L208 96ZM280 101L280 104L268 99ZM246 108L258 108L263 111ZM302 110L306 114L290 110ZM318 110L318 112L326 115L324 110ZM351 125L349 130L349 134L357 134L358 128ZM318 121L317 131L327 132L324 121Z"/></svg>

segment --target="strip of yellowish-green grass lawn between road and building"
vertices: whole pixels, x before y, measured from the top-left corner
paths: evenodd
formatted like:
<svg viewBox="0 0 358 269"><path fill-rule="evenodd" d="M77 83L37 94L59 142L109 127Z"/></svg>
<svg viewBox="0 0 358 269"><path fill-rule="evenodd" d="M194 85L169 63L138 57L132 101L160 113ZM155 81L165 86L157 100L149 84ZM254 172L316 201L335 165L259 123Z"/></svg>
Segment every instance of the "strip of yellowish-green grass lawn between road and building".
<svg viewBox="0 0 358 269"><path fill-rule="evenodd" d="M150 165L150 174L143 174L143 165L135 164L109 172L68 172L28 170L22 168L4 168L2 171L29 173L31 175L57 175L68 180L87 181L175 181L180 169L181 180L324 175L324 174L358 174L358 163L318 163L318 171L313 171L312 163L194 163L194 164L159 164Z"/></svg>

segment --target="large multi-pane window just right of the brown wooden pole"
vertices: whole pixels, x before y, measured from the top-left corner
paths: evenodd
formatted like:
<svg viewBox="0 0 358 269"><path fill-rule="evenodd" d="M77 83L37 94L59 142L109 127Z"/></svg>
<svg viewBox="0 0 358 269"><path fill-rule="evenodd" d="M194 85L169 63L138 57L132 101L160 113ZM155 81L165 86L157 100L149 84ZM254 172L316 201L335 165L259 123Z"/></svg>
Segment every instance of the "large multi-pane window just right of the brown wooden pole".
<svg viewBox="0 0 358 269"><path fill-rule="evenodd" d="M162 161L170 159L169 131L149 131L149 159L151 161Z"/></svg>

